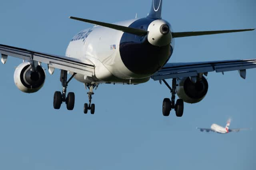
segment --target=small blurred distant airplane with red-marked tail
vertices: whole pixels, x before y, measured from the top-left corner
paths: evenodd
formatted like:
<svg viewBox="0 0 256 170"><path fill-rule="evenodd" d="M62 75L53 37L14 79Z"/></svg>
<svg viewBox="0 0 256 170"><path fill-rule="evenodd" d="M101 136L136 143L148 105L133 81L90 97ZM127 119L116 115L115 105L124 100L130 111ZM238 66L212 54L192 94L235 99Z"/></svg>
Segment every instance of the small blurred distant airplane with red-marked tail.
<svg viewBox="0 0 256 170"><path fill-rule="evenodd" d="M200 129L201 132L203 132L204 130L206 132L217 132L217 133L228 133L228 132L239 132L240 130L248 130L248 128L234 128L234 129L230 129L229 128L229 125L230 125L230 119L228 119L227 121L227 124L226 124L226 127L222 127L220 125L217 125L217 124L212 124L211 128L198 128Z"/></svg>

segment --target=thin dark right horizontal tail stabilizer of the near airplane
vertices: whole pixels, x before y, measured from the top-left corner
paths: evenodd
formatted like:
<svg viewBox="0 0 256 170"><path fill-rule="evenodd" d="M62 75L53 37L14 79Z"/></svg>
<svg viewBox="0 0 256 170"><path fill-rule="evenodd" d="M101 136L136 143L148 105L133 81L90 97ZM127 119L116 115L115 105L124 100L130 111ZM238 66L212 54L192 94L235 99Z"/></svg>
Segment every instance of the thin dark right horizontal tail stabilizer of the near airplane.
<svg viewBox="0 0 256 170"><path fill-rule="evenodd" d="M174 32L172 33L173 38L180 37L190 37L190 36L203 36L203 35L211 35L211 34L223 34L223 33L231 33L231 32L243 32L243 31L252 31L254 29L246 29L246 30L222 30L222 31L199 31L199 32Z"/></svg>

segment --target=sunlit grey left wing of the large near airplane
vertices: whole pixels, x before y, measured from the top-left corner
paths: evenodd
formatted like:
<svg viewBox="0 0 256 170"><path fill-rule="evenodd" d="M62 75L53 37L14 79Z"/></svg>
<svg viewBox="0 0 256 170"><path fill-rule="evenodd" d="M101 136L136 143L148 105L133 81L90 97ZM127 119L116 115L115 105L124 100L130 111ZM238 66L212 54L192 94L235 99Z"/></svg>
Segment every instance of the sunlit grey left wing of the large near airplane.
<svg viewBox="0 0 256 170"><path fill-rule="evenodd" d="M6 62L8 56L12 56L26 61L34 60L40 63L46 63L49 70L57 68L90 77L92 77L94 73L94 65L88 59L80 60L71 57L51 55L2 44L0 44L0 54L2 63ZM49 72L51 73L51 71Z"/></svg>

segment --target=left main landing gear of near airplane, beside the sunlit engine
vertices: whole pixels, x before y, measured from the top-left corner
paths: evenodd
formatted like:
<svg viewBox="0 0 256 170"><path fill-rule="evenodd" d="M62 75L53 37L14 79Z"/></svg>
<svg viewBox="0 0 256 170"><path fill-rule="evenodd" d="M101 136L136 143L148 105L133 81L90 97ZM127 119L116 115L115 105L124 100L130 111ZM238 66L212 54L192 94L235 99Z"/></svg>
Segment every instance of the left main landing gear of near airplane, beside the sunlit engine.
<svg viewBox="0 0 256 170"><path fill-rule="evenodd" d="M70 79L68 79L68 81L67 81L67 75L68 75L68 71L66 71L66 70L61 70L60 71L60 82L62 84L63 89L62 89L62 93L60 91L56 91L54 93L54 99L53 99L54 109L60 109L60 106L61 106L62 102L66 103L66 106L67 106L68 110L71 111L71 110L74 109L75 94L73 92L69 92L67 97L66 97L66 91L67 91L68 83L76 75L76 73L74 73L70 77Z"/></svg>

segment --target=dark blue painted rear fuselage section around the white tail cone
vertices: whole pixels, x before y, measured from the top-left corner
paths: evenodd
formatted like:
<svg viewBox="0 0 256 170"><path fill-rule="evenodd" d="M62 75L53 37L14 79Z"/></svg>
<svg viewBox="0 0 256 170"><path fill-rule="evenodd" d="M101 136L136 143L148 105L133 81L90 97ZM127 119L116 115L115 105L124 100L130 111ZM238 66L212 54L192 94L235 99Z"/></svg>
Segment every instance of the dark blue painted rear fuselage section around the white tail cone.
<svg viewBox="0 0 256 170"><path fill-rule="evenodd" d="M142 18L129 27L148 30L152 21L154 19ZM170 44L163 47L150 44L147 36L124 33L120 41L120 55L124 65L139 75L150 75L158 71L168 61L172 51Z"/></svg>

